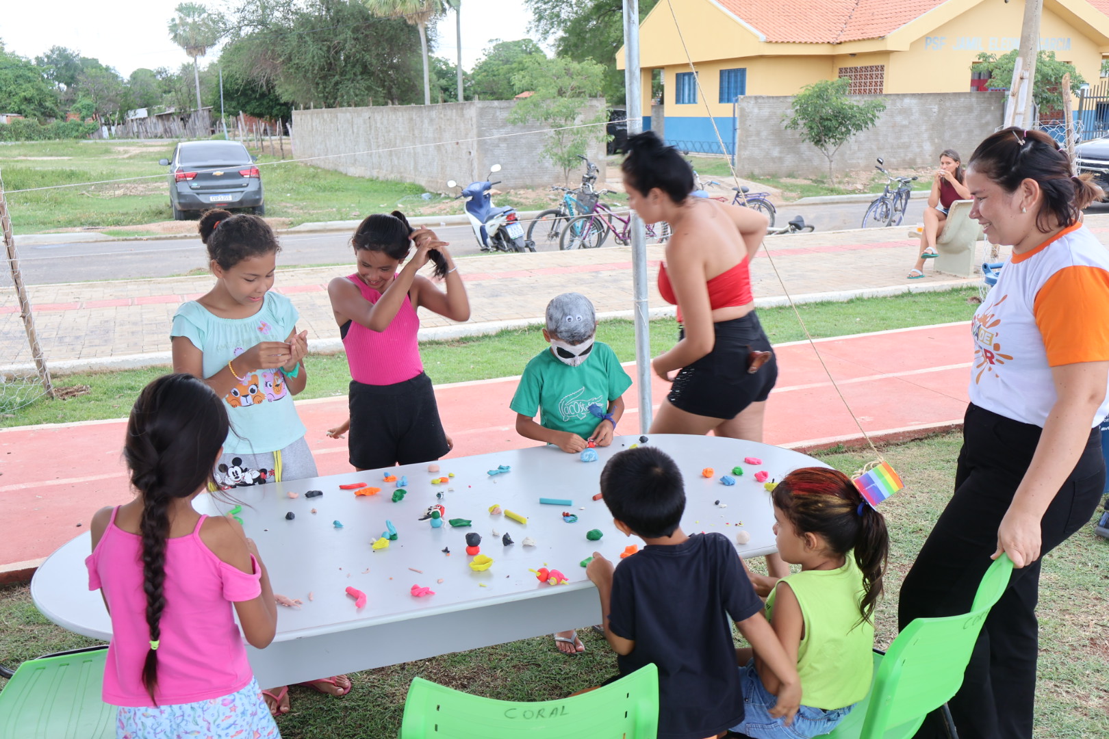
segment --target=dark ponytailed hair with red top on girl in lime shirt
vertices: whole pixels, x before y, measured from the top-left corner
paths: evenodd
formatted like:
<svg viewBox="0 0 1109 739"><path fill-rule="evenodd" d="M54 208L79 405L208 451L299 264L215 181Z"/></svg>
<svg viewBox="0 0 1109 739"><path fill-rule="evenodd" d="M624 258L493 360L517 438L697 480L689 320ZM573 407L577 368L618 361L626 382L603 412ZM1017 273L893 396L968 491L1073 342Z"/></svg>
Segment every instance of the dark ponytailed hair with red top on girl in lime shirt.
<svg viewBox="0 0 1109 739"><path fill-rule="evenodd" d="M885 517L863 500L851 478L827 468L801 468L774 487L777 507L798 534L820 534L834 553L854 552L863 573L863 598L858 610L871 620L882 596L882 576L889 554Z"/></svg>

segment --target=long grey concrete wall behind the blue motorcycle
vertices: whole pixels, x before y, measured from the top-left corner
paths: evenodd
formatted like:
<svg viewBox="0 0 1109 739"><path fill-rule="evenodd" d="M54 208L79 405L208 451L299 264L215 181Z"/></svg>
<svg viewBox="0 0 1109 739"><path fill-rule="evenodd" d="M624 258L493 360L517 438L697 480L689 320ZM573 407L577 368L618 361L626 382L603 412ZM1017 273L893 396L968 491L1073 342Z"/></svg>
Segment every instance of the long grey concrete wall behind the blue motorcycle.
<svg viewBox="0 0 1109 739"><path fill-rule="evenodd" d="M433 192L446 192L448 179L462 185L485 179L494 164L501 166L492 177L503 183L501 188L562 183L562 170L537 154L549 135L540 131L545 126L505 122L515 104L490 100L293 111L296 156L324 156L312 164L358 177L414 182ZM591 100L583 119L603 109L603 100ZM604 144L591 143L588 156L601 167L603 182ZM574 170L570 178L578 178Z"/></svg>

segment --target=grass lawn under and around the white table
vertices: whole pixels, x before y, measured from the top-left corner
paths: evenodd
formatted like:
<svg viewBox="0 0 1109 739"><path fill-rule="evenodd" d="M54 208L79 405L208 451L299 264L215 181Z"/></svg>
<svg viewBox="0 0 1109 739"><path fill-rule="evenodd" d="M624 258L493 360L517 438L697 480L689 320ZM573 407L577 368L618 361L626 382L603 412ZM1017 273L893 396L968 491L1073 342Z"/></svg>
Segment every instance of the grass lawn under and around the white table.
<svg viewBox="0 0 1109 739"><path fill-rule="evenodd" d="M886 596L876 610L879 646L888 645L895 636L901 582L950 495L959 442L957 434L947 434L884 450L909 487L883 505L893 546ZM818 456L848 473L867 459L834 451ZM1037 739L1109 736L1107 557L1109 542L1096 536L1090 524L1044 562ZM278 721L282 736L395 737L405 692L416 676L506 700L564 697L598 685L617 670L604 639L589 629L580 634L587 650L572 658L558 653L550 637L540 637L357 673L350 676L354 690L340 699L293 687L293 712ZM31 604L27 587L0 589L0 659L7 665L91 644L43 618Z"/></svg>

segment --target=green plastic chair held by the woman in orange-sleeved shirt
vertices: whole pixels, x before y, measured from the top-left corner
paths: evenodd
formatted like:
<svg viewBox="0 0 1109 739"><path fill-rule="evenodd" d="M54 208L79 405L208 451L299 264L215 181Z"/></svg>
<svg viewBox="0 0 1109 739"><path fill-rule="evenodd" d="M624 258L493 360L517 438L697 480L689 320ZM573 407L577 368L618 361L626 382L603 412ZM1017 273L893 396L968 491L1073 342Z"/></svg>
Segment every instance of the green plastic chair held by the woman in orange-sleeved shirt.
<svg viewBox="0 0 1109 739"><path fill-rule="evenodd" d="M925 716L945 706L963 685L981 625L1009 586L1011 574L1013 561L1003 554L981 578L970 613L916 618L885 655L875 651L871 692L824 737L902 739L915 735Z"/></svg>

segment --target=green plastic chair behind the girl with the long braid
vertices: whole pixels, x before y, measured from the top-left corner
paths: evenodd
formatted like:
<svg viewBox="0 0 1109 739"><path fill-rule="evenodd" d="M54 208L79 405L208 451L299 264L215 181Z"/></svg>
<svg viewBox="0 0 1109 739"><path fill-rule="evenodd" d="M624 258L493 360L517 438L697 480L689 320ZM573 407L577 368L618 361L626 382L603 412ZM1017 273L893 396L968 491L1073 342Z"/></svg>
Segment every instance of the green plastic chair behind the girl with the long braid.
<svg viewBox="0 0 1109 739"><path fill-rule="evenodd" d="M115 706L100 699L108 647L77 649L19 666L0 690L0 737L115 737Z"/></svg>

